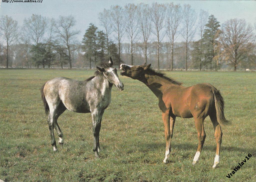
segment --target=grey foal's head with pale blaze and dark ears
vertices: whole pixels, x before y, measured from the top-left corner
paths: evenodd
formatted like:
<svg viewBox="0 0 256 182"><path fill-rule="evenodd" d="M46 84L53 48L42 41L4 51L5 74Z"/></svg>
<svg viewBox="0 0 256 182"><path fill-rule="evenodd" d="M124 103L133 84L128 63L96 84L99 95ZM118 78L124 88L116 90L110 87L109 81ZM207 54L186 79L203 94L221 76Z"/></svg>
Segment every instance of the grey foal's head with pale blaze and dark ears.
<svg viewBox="0 0 256 182"><path fill-rule="evenodd" d="M116 68L113 67L113 60L110 57L108 64L104 65L104 67L96 67L99 72L102 72L104 77L108 79L108 81L114 84L120 91L124 90L124 84L120 81Z"/></svg>

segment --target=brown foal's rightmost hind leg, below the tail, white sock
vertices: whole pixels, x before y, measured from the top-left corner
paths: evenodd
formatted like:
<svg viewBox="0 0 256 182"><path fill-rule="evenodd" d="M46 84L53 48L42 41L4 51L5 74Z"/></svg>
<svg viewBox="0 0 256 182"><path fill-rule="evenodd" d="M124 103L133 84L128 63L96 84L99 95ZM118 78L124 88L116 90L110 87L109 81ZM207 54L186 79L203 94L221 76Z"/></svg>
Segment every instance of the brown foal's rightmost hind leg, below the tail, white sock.
<svg viewBox="0 0 256 182"><path fill-rule="evenodd" d="M216 113L210 115L211 122L213 124L213 129L215 131L214 136L216 139L216 156L214 159L214 165L212 166L215 168L219 164L219 154L220 154L220 145L221 145L221 139L222 139L222 131L220 128L220 124L217 122Z"/></svg>

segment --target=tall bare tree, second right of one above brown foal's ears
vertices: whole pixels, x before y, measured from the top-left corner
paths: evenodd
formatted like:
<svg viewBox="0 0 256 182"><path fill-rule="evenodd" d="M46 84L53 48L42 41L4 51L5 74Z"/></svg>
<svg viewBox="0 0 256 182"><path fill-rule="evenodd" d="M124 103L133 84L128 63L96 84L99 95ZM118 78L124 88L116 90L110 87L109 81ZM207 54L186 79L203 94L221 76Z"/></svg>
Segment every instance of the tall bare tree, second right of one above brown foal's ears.
<svg viewBox="0 0 256 182"><path fill-rule="evenodd" d="M182 8L181 6L174 5L173 3L168 4L166 10L166 24L167 24L167 35L171 42L171 70L173 70L173 46L174 41L177 38L178 27L182 20Z"/></svg>

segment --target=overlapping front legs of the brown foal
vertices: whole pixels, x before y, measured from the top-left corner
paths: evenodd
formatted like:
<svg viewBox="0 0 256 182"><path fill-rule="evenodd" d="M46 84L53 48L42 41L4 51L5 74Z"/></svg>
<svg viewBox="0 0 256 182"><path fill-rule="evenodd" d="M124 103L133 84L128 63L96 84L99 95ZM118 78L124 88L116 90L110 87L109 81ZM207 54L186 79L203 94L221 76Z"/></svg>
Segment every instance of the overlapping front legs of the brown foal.
<svg viewBox="0 0 256 182"><path fill-rule="evenodd" d="M165 130L165 141L166 141L166 148L165 148L165 158L163 163L168 163L168 157L171 151L171 140L173 137L173 127L175 123L175 116L170 116L170 110L166 110L162 113L162 119L164 122L164 130Z"/></svg>

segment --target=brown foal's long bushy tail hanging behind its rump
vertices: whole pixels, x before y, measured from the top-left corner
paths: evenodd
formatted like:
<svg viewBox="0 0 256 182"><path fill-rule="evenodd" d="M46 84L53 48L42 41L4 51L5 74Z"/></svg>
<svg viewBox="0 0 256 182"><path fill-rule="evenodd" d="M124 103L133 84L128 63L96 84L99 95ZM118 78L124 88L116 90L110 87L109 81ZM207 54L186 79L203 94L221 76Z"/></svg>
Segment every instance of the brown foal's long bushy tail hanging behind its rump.
<svg viewBox="0 0 256 182"><path fill-rule="evenodd" d="M226 120L224 116L224 100L217 89L212 89L214 100L215 100L215 109L216 109L216 116L217 122L221 125L227 125L230 122Z"/></svg>

